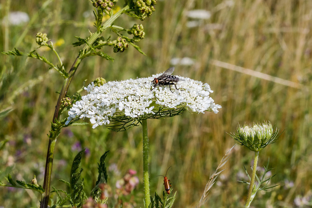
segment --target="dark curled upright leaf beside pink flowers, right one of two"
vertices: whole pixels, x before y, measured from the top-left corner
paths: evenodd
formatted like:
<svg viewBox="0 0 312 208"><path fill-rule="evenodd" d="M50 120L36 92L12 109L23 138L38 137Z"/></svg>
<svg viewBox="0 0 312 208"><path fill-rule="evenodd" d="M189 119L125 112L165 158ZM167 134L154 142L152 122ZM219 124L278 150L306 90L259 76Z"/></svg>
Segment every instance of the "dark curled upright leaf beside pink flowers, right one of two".
<svg viewBox="0 0 312 208"><path fill-rule="evenodd" d="M100 195L101 195L101 190L99 185L100 184L107 184L107 170L105 166L105 158L107 156L107 153L109 151L106 151L101 157L100 157L100 163L98 163L98 180L95 182L95 187L91 191L91 196L93 199L95 199L96 202L99 202L100 200Z"/></svg>

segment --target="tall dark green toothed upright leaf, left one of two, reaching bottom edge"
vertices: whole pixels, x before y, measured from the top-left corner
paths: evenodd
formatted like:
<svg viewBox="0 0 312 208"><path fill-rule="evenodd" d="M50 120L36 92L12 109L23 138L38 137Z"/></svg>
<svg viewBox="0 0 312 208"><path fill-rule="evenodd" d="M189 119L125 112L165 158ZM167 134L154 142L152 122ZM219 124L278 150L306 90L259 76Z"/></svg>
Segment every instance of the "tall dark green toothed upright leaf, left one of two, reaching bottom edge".
<svg viewBox="0 0 312 208"><path fill-rule="evenodd" d="M71 165L71 175L70 175L71 204L72 206L75 206L77 208L83 205L83 202L86 198L85 192L83 191L84 179L82 179L82 181L78 183L78 180L80 178L80 175L83 169L80 168L80 170L77 171L77 169L80 167L81 157L84 151L85 149L78 152L78 154L75 156L74 161Z"/></svg>

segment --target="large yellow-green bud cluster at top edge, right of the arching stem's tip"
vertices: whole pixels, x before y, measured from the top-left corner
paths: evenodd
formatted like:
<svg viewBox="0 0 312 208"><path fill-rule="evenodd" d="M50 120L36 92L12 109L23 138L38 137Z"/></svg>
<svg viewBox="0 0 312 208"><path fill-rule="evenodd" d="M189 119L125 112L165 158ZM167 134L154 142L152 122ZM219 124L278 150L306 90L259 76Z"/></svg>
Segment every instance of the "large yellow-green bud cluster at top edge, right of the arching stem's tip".
<svg viewBox="0 0 312 208"><path fill-rule="evenodd" d="M146 17L150 17L152 12L155 11L155 4L157 0L133 0L135 8L138 9L135 12L140 17L140 20L144 20Z"/></svg>

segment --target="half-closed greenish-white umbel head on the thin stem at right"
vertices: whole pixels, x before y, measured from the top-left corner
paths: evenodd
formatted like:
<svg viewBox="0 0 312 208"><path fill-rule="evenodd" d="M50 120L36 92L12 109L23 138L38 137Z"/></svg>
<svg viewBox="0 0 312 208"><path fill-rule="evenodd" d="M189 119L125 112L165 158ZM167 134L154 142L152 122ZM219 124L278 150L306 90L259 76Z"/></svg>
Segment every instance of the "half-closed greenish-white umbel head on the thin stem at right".
<svg viewBox="0 0 312 208"><path fill-rule="evenodd" d="M273 131L270 122L256 123L253 126L238 125L236 132L231 133L234 140L240 145L246 146L251 151L260 151L267 145L276 141L278 134L277 128Z"/></svg>

